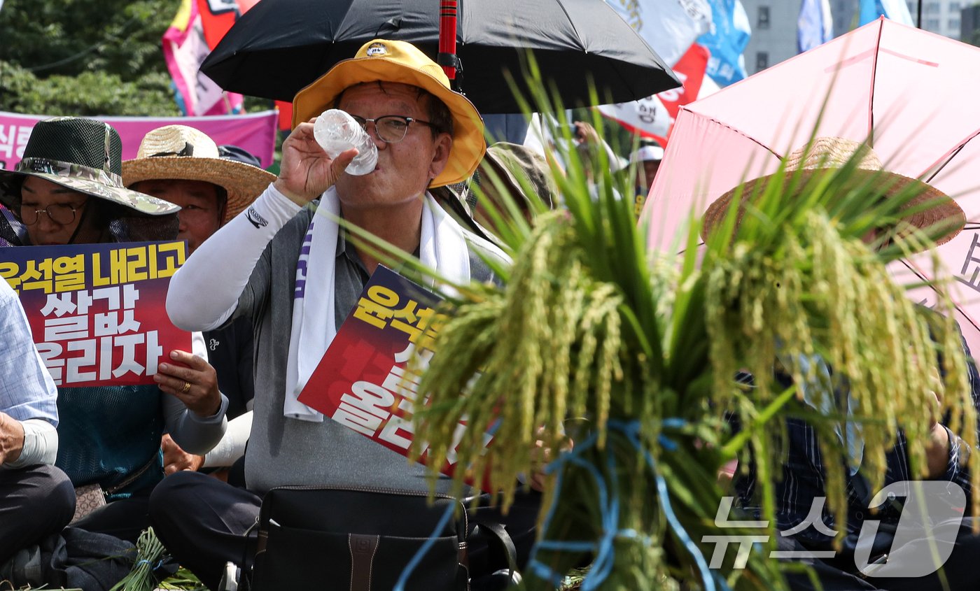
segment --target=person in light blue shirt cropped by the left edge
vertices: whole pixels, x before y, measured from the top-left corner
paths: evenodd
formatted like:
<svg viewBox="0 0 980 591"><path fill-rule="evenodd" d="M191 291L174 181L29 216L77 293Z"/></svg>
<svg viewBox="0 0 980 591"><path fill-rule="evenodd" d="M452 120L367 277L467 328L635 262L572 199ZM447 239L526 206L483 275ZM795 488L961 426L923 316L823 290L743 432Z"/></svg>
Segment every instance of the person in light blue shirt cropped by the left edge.
<svg viewBox="0 0 980 591"><path fill-rule="evenodd" d="M74 489L54 467L58 390L17 294L0 278L0 567L72 520Z"/></svg>

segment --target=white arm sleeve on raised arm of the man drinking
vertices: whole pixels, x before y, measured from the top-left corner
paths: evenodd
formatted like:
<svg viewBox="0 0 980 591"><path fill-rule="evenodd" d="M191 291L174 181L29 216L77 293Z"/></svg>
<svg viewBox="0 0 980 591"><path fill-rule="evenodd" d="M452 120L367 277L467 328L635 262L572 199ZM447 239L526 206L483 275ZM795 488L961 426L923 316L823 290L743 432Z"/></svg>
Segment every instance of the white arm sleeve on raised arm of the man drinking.
<svg viewBox="0 0 980 591"><path fill-rule="evenodd" d="M234 313L238 296L272 237L299 210L270 185L254 204L194 250L171 279L167 313L172 323L185 331L221 326Z"/></svg>

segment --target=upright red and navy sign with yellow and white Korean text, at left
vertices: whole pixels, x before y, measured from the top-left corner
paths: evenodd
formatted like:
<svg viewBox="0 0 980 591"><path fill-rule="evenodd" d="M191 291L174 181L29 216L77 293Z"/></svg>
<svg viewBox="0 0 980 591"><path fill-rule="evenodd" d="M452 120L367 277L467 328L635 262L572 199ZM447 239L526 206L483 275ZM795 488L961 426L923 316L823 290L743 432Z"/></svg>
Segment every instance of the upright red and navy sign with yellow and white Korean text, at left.
<svg viewBox="0 0 980 591"><path fill-rule="evenodd" d="M190 350L165 309L186 245L127 243L0 249L57 386L154 384L160 358Z"/></svg>

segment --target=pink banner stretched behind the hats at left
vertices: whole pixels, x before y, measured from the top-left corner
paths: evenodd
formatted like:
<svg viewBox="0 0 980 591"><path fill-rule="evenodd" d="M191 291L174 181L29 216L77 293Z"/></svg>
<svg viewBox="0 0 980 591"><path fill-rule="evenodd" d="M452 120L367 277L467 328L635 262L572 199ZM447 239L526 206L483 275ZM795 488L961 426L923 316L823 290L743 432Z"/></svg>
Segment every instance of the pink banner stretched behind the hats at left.
<svg viewBox="0 0 980 591"><path fill-rule="evenodd" d="M14 114L0 111L0 168L12 170L24 158L24 147L34 123L48 118L39 114ZM136 158L139 142L152 129L163 125L180 124L200 129L219 146L232 144L254 154L262 165L272 165L275 151L275 132L278 123L275 111L253 114L229 114L207 117L92 117L116 128L123 138L123 159Z"/></svg>

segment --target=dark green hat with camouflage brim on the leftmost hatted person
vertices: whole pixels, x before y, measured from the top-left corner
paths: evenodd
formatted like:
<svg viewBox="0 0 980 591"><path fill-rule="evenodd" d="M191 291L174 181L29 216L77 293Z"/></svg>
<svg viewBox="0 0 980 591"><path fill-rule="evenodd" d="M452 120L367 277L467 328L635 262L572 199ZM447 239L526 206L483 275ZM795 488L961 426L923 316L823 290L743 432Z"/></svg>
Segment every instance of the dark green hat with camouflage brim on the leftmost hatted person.
<svg viewBox="0 0 980 591"><path fill-rule="evenodd" d="M168 215L179 209L126 189L122 162L123 141L108 123L83 117L38 121L24 158L14 170L0 170L0 201L20 214L21 184L25 177L36 176L140 215Z"/></svg>

